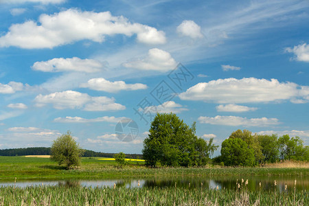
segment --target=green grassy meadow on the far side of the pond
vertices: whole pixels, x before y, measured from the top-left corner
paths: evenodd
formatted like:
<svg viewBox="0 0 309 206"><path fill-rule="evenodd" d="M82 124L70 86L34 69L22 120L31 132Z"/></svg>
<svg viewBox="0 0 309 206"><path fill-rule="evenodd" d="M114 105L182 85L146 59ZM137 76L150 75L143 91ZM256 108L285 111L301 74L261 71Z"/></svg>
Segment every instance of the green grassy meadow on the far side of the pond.
<svg viewBox="0 0 309 206"><path fill-rule="evenodd" d="M124 168L117 168L113 160L82 158L82 165L76 170L65 170L47 158L0 157L0 181L14 179L100 179L125 176L228 176L228 175L269 175L307 176L308 167L300 168L146 168L143 162L130 162Z"/></svg>

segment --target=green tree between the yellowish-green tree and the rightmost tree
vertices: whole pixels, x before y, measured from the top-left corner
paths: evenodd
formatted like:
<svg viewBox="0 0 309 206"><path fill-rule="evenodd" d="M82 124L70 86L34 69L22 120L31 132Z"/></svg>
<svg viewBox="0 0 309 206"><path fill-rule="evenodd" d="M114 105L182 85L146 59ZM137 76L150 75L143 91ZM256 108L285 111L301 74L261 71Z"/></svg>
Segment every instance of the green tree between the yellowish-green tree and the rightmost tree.
<svg viewBox="0 0 309 206"><path fill-rule="evenodd" d="M262 147L263 163L275 163L279 159L279 144L277 135L258 135Z"/></svg>

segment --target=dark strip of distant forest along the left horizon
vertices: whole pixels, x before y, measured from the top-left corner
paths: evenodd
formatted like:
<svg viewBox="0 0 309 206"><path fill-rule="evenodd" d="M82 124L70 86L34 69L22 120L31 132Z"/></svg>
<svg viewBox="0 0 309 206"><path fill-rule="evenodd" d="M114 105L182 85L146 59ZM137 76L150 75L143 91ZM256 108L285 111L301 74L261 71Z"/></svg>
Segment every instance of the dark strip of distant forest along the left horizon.
<svg viewBox="0 0 309 206"><path fill-rule="evenodd" d="M0 156L24 156L24 155L50 155L50 148L16 148L0 150ZM110 157L113 158L115 153L94 152L84 150L82 157ZM143 155L128 154L126 158L142 159Z"/></svg>

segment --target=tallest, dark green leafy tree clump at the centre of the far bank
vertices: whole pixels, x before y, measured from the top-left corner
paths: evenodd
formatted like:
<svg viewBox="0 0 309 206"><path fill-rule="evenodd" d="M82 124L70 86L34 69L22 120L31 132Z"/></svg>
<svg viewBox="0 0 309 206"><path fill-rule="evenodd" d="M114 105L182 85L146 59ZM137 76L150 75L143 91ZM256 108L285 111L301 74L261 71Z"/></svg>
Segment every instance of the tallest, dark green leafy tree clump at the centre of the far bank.
<svg viewBox="0 0 309 206"><path fill-rule="evenodd" d="M157 113L148 137L144 140L143 157L146 165L192 166L203 165L216 146L195 135L192 128L174 113Z"/></svg>

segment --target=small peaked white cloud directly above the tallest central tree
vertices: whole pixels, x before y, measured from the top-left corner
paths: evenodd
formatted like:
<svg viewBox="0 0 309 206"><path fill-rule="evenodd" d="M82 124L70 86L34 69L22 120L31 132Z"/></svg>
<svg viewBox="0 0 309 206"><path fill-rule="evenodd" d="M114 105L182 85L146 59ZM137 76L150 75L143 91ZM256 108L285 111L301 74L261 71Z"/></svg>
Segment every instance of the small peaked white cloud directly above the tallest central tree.
<svg viewBox="0 0 309 206"><path fill-rule="evenodd" d="M139 108L139 111L142 111ZM183 108L181 104L176 104L173 101L164 102L158 106L146 106L144 108L144 113L181 113L183 111L188 111L187 108Z"/></svg>

